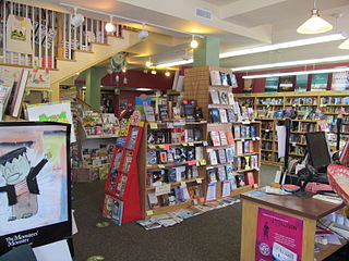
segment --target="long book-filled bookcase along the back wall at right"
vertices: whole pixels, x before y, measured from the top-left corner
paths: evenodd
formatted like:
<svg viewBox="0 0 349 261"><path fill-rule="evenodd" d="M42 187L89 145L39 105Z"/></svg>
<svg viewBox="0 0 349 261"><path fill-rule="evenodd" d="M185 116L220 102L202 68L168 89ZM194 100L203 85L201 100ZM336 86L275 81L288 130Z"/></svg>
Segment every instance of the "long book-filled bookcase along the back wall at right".
<svg viewBox="0 0 349 261"><path fill-rule="evenodd" d="M290 159L304 157L308 132L326 130L328 141L336 145L336 121L341 115L341 145L349 139L349 91L264 92L237 96L240 104L253 104L255 117L262 122L262 163L277 165L276 126L292 117ZM348 119L348 120L346 120Z"/></svg>

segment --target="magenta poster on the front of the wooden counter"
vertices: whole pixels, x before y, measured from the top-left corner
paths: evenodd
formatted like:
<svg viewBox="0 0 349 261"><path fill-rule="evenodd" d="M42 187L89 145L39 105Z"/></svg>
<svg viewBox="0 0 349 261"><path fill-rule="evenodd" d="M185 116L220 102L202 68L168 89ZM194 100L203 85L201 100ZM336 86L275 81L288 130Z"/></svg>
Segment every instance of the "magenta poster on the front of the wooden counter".
<svg viewBox="0 0 349 261"><path fill-rule="evenodd" d="M303 221L258 208L255 261L301 261Z"/></svg>

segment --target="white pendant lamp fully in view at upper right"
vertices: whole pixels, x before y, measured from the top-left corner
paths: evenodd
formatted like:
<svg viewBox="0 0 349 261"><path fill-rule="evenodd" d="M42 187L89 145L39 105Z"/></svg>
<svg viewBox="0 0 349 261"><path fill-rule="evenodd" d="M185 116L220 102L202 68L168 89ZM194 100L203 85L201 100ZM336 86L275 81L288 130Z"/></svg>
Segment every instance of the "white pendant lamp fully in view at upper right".
<svg viewBox="0 0 349 261"><path fill-rule="evenodd" d="M329 24L324 18L320 17L316 3L317 0L314 0L314 9L312 10L312 16L297 28L298 34L322 34L333 29L332 24Z"/></svg>

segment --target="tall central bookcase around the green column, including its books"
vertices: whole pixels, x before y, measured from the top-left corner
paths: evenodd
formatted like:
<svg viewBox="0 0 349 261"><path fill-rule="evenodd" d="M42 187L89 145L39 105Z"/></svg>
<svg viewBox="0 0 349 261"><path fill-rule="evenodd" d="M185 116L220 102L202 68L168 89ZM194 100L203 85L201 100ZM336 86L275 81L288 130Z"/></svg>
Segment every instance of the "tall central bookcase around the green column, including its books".
<svg viewBox="0 0 349 261"><path fill-rule="evenodd" d="M230 70L204 66L185 70L184 97L195 99L208 121L205 200L238 195L256 187L261 163L261 124L251 107L239 107ZM238 129L240 129L238 132Z"/></svg>

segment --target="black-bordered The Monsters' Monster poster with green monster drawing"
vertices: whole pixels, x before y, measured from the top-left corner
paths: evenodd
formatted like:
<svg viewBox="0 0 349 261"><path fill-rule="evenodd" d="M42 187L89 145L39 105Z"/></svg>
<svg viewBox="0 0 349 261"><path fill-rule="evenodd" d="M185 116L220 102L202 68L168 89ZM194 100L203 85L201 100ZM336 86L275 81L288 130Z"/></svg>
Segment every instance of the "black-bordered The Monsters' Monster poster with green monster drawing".
<svg viewBox="0 0 349 261"><path fill-rule="evenodd" d="M0 123L0 256L71 236L70 125Z"/></svg>

